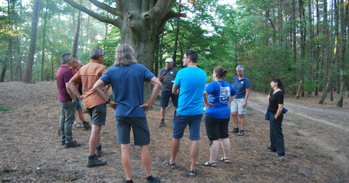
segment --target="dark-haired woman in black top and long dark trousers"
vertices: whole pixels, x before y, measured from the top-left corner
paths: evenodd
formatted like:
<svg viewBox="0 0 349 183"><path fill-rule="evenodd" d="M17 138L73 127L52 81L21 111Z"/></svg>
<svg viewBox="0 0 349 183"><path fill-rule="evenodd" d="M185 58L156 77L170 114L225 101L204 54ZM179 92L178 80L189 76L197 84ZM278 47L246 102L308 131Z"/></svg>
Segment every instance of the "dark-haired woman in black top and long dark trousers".
<svg viewBox="0 0 349 183"><path fill-rule="evenodd" d="M267 97L269 101L270 146L266 147L266 149L277 152L275 155L283 158L285 156L285 144L281 126L283 119L284 84L280 78L273 78L270 86L274 91Z"/></svg>

